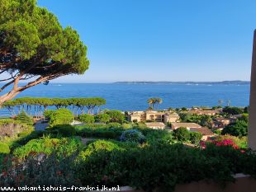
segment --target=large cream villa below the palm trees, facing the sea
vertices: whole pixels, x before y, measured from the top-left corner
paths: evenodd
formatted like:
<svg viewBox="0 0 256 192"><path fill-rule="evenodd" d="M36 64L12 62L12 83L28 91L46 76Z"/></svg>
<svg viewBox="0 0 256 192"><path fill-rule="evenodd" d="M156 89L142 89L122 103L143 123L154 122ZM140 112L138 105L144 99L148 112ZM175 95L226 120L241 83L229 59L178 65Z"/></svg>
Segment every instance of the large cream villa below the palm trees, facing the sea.
<svg viewBox="0 0 256 192"><path fill-rule="evenodd" d="M179 115L171 111L145 110L131 112L128 115L128 119L130 120L130 122L155 121L167 124L177 122L179 119Z"/></svg>

